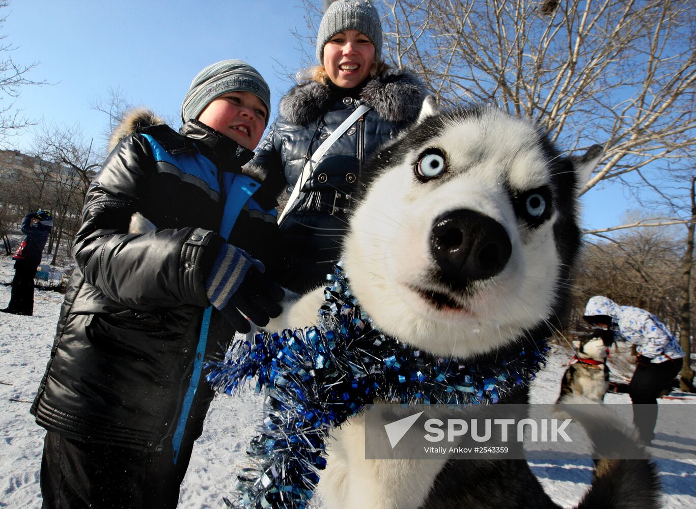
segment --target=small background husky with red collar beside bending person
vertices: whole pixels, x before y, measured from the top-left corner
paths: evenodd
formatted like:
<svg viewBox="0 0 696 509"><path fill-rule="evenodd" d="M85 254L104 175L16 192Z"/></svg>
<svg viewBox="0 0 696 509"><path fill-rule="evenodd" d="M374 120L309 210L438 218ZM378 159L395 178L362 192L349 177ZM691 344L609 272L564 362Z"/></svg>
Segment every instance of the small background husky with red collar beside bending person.
<svg viewBox="0 0 696 509"><path fill-rule="evenodd" d="M614 333L606 329L595 329L583 339L573 341L577 353L568 363L556 403L562 403L571 394L585 396L596 403L604 401L609 389L606 359L613 342Z"/></svg>

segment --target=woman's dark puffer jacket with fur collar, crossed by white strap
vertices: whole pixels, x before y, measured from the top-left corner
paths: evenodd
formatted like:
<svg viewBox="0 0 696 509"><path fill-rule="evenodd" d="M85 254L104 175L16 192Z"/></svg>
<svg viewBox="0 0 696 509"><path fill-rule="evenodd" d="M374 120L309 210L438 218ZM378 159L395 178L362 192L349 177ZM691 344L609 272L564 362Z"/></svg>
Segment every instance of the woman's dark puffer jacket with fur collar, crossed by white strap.
<svg viewBox="0 0 696 509"><path fill-rule="evenodd" d="M280 102L280 116L250 166L269 172L292 192L306 161L358 105L372 109L343 134L316 165L299 207L280 225L290 257L281 282L297 292L321 284L340 256L349 209L345 195L365 178L363 162L377 148L418 118L425 89L415 75L400 71L345 89L311 81L295 86Z"/></svg>

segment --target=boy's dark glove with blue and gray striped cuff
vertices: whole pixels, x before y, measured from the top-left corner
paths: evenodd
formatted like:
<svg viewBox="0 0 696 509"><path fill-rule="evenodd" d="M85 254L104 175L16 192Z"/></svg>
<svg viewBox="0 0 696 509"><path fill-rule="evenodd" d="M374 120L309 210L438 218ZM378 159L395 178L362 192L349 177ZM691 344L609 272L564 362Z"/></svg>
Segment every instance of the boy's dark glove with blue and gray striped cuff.
<svg viewBox="0 0 696 509"><path fill-rule="evenodd" d="M278 302L285 292L263 275L264 270L263 264L244 250L223 244L208 275L205 291L210 303L237 332L251 330L242 313L263 326L283 311Z"/></svg>

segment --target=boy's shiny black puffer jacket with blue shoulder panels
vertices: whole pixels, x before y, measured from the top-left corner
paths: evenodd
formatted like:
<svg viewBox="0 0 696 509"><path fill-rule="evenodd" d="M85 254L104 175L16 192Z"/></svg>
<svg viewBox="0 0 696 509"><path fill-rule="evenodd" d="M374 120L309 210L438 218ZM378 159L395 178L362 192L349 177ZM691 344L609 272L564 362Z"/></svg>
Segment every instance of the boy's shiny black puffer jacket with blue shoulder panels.
<svg viewBox="0 0 696 509"><path fill-rule="evenodd" d="M180 134L141 123L127 120L136 134L116 145L90 185L72 250L77 268L31 412L73 438L162 451L175 430L184 443L200 435L213 396L205 369L192 373L223 204L239 200L241 209L230 243L272 271L278 190L242 175L251 151L200 122ZM249 197L242 184L260 191ZM135 212L157 229L128 233ZM203 362L233 336L214 309Z"/></svg>

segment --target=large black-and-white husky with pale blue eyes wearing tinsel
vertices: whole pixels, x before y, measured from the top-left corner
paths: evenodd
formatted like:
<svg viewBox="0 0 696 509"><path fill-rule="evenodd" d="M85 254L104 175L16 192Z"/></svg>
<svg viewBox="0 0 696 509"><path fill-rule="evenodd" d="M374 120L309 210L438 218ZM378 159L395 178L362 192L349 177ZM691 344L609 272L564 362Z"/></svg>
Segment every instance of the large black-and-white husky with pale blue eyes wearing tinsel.
<svg viewBox="0 0 696 509"><path fill-rule="evenodd" d="M439 113L427 99L369 163L349 219L343 263L361 309L413 348L464 362L537 348L565 307L577 191L601 152L565 158L530 122L489 107ZM269 328L315 323L322 302L308 293ZM527 401L528 387L505 395ZM557 507L524 460L365 460L364 444L362 415L333 433L327 507ZM600 459L580 507L656 507L656 485L648 460Z"/></svg>

